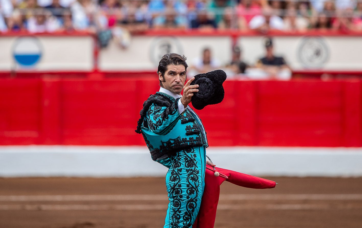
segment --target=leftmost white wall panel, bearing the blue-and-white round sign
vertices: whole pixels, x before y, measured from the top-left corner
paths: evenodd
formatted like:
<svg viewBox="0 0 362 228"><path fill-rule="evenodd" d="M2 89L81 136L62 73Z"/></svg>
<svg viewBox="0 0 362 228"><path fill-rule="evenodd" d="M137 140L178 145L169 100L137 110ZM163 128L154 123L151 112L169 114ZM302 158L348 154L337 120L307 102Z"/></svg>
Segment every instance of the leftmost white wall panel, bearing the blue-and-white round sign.
<svg viewBox="0 0 362 228"><path fill-rule="evenodd" d="M22 66L14 60L14 52L22 42L38 44L38 63ZM27 52L27 50L20 52ZM26 48L25 48L26 49ZM93 69L92 36L5 36L0 37L0 70L87 70ZM29 51L29 50L28 50ZM33 50L34 51L34 50Z"/></svg>

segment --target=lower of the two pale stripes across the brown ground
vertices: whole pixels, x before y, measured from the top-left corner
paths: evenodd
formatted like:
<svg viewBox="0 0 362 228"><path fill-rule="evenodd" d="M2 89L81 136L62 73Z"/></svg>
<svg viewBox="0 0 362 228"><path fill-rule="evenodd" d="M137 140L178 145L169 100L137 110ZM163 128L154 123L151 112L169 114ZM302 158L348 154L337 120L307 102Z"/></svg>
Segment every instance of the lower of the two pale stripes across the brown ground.
<svg viewBox="0 0 362 228"><path fill-rule="evenodd" d="M362 205L327 205L327 204L268 204L268 205L218 205L218 210L353 210L361 209ZM167 210L164 205L0 205L0 211L24 210L24 211L50 211L50 210Z"/></svg>

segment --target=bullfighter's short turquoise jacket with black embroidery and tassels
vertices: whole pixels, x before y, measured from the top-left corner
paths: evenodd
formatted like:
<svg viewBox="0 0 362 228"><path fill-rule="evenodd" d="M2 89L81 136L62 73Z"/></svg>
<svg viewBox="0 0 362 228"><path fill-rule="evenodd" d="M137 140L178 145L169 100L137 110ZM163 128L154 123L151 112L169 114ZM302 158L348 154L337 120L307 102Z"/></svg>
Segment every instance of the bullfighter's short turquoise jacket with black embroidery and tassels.
<svg viewBox="0 0 362 228"><path fill-rule="evenodd" d="M142 133L152 160L189 147L208 146L201 120L189 107L181 115L178 99L157 92L143 103L136 132Z"/></svg>

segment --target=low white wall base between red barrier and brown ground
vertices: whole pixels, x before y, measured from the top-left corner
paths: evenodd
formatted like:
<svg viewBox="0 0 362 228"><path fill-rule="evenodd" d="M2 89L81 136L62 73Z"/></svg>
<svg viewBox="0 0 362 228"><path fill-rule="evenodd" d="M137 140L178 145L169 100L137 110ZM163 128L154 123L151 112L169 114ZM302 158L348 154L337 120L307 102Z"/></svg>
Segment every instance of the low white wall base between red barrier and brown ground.
<svg viewBox="0 0 362 228"><path fill-rule="evenodd" d="M209 147L217 166L255 176L362 176L361 148ZM0 176L164 176L146 146L0 146Z"/></svg>

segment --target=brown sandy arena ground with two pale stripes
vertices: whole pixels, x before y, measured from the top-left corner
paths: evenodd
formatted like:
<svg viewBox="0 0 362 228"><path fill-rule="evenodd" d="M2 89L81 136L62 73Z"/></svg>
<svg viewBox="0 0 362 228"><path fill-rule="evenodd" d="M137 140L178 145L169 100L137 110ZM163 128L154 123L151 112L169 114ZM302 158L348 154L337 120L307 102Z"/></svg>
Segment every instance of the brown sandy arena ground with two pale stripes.
<svg viewBox="0 0 362 228"><path fill-rule="evenodd" d="M264 177L268 178L268 177ZM362 178L221 186L215 228L361 228ZM164 178L0 178L0 228L160 228Z"/></svg>

